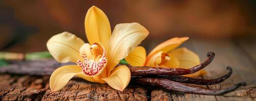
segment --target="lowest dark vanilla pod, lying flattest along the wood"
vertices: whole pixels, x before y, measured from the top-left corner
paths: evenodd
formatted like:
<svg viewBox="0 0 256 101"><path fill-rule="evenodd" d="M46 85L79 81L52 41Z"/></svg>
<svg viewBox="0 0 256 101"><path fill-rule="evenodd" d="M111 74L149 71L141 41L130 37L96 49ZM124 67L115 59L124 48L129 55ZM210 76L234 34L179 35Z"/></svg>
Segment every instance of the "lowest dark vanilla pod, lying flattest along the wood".
<svg viewBox="0 0 256 101"><path fill-rule="evenodd" d="M204 95L221 95L224 93L231 92L239 88L240 86L246 85L245 82L242 82L242 83L237 83L225 89L214 90L214 89L208 89L204 87L192 86L189 84L180 83L180 82L172 81L166 78L138 77L138 78L132 78L131 82L136 82L143 85L158 86L158 87L162 87L172 91L181 91L185 93L204 94Z"/></svg>

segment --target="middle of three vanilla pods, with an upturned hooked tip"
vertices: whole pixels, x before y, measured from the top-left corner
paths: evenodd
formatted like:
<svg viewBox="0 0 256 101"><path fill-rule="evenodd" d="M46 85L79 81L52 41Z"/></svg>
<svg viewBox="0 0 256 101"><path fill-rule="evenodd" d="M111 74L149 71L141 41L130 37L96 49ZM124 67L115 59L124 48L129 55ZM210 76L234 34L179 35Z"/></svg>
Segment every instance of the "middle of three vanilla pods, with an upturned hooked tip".
<svg viewBox="0 0 256 101"><path fill-rule="evenodd" d="M190 83L190 84L197 84L197 85L213 85L213 84L218 84L220 82L225 81L227 78L229 78L232 75L232 68L228 66L226 67L226 69L229 70L229 73L216 79L191 78L191 77L185 77L185 76L179 76L179 75L164 75L164 76L159 76L159 78L166 78L166 79L173 80L176 82L181 82L181 83Z"/></svg>

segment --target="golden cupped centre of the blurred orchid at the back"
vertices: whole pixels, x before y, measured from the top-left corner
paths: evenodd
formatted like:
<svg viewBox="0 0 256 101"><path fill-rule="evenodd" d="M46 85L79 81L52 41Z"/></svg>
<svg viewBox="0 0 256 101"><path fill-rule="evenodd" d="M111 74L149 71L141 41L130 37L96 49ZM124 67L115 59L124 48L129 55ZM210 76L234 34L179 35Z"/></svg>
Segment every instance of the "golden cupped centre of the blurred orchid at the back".
<svg viewBox="0 0 256 101"><path fill-rule="evenodd" d="M158 52L157 54L152 55L151 58L149 58L146 62L146 66L150 67L166 67L166 68L176 68L179 67L179 60L173 56L168 55L168 59L165 59L167 56L162 51Z"/></svg>

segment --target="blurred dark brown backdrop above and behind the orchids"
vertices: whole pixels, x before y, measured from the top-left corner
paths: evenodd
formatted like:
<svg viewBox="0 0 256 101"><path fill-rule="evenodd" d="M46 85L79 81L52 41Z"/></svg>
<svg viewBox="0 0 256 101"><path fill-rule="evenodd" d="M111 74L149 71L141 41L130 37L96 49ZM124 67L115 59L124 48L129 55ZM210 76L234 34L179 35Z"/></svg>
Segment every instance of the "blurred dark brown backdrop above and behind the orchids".
<svg viewBox="0 0 256 101"><path fill-rule="evenodd" d="M84 17L97 6L111 29L138 22L149 31L142 45L175 36L193 39L250 37L255 40L256 2L251 1L0 1L0 51L46 51L54 34L68 31L86 40ZM251 37L252 36L252 37Z"/></svg>

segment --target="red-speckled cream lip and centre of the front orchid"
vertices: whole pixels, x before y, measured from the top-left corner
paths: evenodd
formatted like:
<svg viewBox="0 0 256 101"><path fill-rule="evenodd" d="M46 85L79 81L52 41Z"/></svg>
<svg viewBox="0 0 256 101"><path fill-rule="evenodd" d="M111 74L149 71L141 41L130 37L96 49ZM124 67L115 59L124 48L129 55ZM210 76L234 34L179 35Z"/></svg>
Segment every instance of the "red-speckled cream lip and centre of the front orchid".
<svg viewBox="0 0 256 101"><path fill-rule="evenodd" d="M86 76L97 76L107 64L106 51L101 43L83 45L80 48L80 55L84 62L77 61L77 65L82 68L82 73Z"/></svg>

